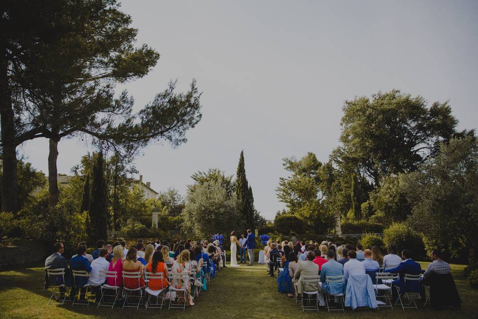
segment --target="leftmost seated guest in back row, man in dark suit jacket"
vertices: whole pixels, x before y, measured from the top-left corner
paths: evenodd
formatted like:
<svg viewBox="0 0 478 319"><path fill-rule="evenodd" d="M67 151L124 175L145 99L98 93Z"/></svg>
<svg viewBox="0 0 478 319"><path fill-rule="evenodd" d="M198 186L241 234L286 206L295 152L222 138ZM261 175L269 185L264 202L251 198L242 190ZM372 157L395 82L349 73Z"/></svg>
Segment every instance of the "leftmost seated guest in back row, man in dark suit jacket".
<svg viewBox="0 0 478 319"><path fill-rule="evenodd" d="M63 246L63 243L58 242L53 245L53 254L48 256L48 258L45 260L45 290L48 289L48 287L51 286L59 286L62 284L65 284L67 287L72 286L72 280L71 280L71 272L70 269L68 268L68 265L66 263L65 257L62 256L63 252L65 250L65 246ZM52 276L48 277L48 274L46 272L47 269L59 269L63 268L65 269L65 282L63 282L63 276ZM66 289L65 287L60 287L60 299L64 298Z"/></svg>

